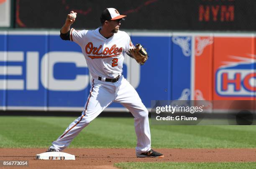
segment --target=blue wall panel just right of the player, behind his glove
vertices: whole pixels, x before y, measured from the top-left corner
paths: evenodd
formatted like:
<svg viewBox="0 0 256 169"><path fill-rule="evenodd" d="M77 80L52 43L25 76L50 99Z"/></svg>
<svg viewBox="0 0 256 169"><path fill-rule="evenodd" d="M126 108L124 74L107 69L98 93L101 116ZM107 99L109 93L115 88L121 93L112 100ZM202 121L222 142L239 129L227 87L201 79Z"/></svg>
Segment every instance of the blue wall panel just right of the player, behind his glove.
<svg viewBox="0 0 256 169"><path fill-rule="evenodd" d="M166 36L131 36L133 44L141 43L148 51L148 61L141 66L140 83L136 88L146 107L151 100L171 100L171 37Z"/></svg>

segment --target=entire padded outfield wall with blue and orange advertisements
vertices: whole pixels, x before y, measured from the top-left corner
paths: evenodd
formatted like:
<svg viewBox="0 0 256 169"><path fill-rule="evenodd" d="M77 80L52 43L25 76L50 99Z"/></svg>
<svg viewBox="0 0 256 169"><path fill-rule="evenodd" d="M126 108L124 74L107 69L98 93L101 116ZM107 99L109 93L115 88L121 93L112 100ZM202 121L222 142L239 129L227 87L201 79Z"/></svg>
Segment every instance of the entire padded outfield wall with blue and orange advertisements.
<svg viewBox="0 0 256 169"><path fill-rule="evenodd" d="M151 100L256 98L256 34L128 32L148 50L123 75L146 107ZM0 32L0 109L82 111L90 74L81 48L59 31ZM117 103L108 111L126 111Z"/></svg>

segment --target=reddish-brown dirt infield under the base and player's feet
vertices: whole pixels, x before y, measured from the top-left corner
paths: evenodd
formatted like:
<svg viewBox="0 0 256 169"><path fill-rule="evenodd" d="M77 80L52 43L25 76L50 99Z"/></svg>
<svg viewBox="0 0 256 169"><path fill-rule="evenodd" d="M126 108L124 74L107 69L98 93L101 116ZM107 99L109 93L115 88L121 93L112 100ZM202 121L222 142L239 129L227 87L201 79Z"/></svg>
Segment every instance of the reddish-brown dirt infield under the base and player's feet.
<svg viewBox="0 0 256 169"><path fill-rule="evenodd" d="M36 160L46 149L0 149L0 160L28 160L30 168L114 168L118 162L245 162L256 161L256 149L155 149L164 158L136 158L134 149L66 149L76 160ZM7 169L8 167L0 167ZM10 167L12 168L12 167Z"/></svg>

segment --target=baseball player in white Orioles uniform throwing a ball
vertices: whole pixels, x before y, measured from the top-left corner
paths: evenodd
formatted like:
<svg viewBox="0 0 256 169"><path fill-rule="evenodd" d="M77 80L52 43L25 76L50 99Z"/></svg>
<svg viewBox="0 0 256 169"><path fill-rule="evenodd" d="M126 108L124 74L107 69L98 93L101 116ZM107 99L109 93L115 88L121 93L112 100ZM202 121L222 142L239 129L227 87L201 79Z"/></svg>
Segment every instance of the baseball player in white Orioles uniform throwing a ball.
<svg viewBox="0 0 256 169"><path fill-rule="evenodd" d="M74 11L71 11L67 15L60 37L63 40L71 40L82 48L92 75L90 94L81 116L72 122L56 141L52 142L46 152L63 151L74 137L108 105L117 102L128 108L134 116L137 135L136 156L164 157L163 154L151 149L148 110L141 102L136 90L122 75L124 54L128 53L131 57L136 57L134 52L131 52L135 47L129 35L119 30L120 22L124 20L125 15L120 15L114 8L106 8L100 17L101 27L95 30L75 30L70 29L75 21L72 18L73 13Z"/></svg>

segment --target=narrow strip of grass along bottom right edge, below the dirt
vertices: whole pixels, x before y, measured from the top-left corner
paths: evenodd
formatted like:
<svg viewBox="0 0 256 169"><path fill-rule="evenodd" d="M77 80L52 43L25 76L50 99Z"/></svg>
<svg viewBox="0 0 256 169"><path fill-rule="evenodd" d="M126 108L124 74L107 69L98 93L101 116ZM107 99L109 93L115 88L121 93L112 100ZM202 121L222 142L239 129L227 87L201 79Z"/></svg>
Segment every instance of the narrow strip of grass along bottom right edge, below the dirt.
<svg viewBox="0 0 256 169"><path fill-rule="evenodd" d="M187 163L187 162L128 162L114 164L121 169L242 169L256 168L255 162Z"/></svg>

